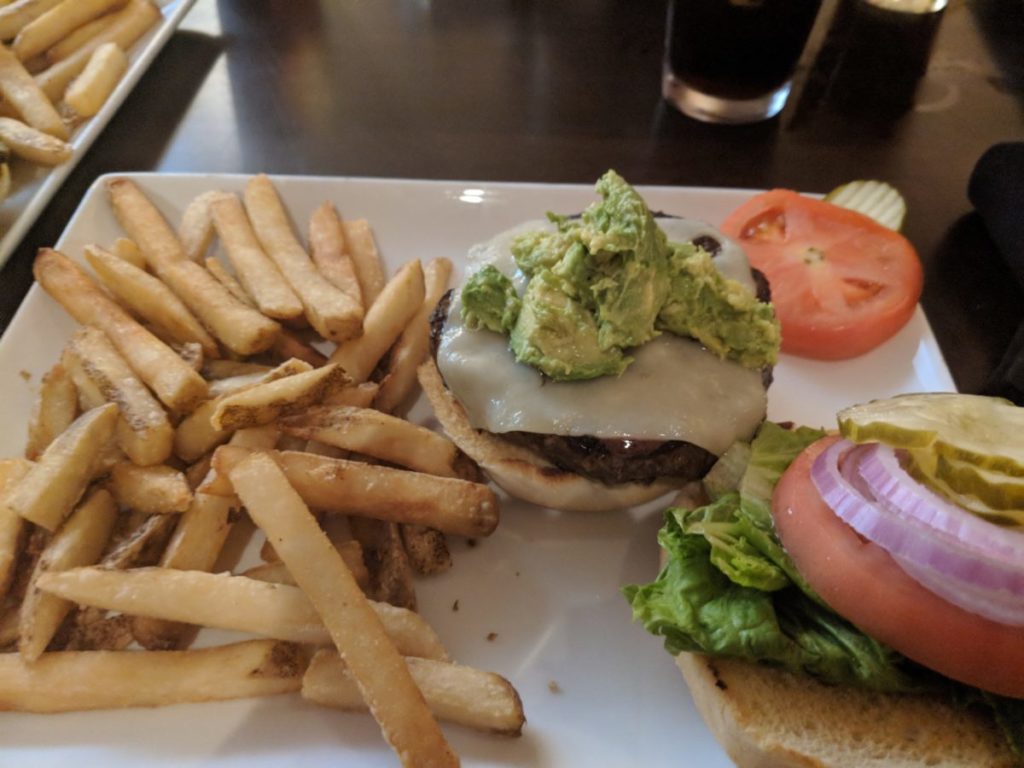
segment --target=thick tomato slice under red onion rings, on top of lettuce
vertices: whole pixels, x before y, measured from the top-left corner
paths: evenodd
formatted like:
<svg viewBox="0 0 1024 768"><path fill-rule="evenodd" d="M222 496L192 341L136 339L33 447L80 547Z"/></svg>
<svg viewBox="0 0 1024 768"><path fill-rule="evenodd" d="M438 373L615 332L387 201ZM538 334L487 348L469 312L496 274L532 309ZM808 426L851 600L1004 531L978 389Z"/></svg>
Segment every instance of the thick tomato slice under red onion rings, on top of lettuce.
<svg viewBox="0 0 1024 768"><path fill-rule="evenodd" d="M837 439L797 457L772 497L775 528L797 569L876 640L953 680L1024 698L1024 627L982 618L925 589L821 501L811 465Z"/></svg>

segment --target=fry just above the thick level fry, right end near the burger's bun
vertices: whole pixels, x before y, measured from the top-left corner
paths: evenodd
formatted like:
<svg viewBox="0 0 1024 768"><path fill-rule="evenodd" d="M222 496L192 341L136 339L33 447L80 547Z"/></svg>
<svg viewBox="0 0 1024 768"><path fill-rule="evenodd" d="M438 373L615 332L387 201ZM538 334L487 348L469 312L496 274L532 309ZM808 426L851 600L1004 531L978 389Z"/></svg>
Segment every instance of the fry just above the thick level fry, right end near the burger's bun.
<svg viewBox="0 0 1024 768"><path fill-rule="evenodd" d="M458 477L459 449L437 432L368 408L322 406L278 421L287 434L366 454L390 464Z"/></svg>

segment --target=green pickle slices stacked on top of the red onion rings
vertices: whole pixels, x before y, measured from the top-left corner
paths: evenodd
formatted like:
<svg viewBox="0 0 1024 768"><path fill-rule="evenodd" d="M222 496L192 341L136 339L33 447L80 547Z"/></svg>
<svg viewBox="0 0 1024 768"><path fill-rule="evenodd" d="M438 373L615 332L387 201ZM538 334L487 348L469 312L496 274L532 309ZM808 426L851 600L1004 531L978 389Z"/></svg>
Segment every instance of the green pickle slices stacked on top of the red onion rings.
<svg viewBox="0 0 1024 768"><path fill-rule="evenodd" d="M993 492L993 498L1024 484L1024 479L1011 479L1024 478L1024 408L1009 400L952 392L897 395L841 411L839 428L854 442L931 450L936 458L929 474L938 475L942 457L947 483L949 475L956 475L955 481L967 486L1010 484ZM983 471L969 477L957 471L966 465Z"/></svg>

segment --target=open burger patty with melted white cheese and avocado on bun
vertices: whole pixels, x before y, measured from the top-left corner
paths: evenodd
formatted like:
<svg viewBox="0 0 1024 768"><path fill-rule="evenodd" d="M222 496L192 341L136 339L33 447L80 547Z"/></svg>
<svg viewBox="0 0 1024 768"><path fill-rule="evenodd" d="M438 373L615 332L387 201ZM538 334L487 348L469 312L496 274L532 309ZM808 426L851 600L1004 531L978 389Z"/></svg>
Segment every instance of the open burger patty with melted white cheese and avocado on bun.
<svg viewBox="0 0 1024 768"><path fill-rule="evenodd" d="M779 328L763 275L709 224L651 213L609 171L579 216L470 251L421 383L512 496L598 511L699 479L765 418Z"/></svg>

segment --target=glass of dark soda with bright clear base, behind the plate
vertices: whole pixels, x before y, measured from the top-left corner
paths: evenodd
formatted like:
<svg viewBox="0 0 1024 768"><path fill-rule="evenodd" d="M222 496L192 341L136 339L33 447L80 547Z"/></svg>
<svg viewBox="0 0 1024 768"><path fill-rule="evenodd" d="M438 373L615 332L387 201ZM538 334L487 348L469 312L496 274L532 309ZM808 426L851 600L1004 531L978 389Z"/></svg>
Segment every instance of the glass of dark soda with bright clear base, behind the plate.
<svg viewBox="0 0 1024 768"><path fill-rule="evenodd" d="M663 94L714 123L777 115L821 0L672 0Z"/></svg>

